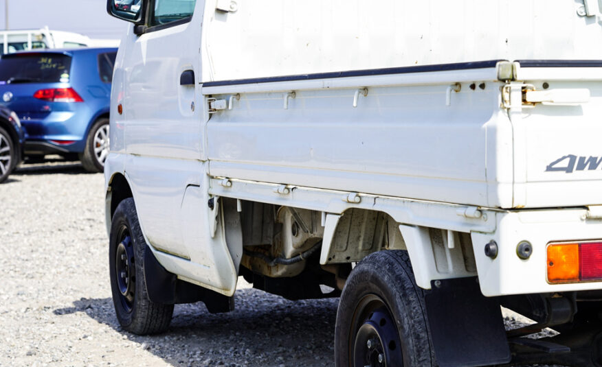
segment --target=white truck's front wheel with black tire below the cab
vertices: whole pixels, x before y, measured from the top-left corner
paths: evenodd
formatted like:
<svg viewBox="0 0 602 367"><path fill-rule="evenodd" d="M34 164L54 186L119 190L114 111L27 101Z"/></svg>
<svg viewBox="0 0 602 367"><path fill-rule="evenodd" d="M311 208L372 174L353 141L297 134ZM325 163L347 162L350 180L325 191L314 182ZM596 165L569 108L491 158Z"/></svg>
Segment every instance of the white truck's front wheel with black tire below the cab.
<svg viewBox="0 0 602 367"><path fill-rule="evenodd" d="M173 305L154 303L146 293L142 235L133 198L120 202L111 221L109 270L113 305L120 325L131 333L146 335L166 331Z"/></svg>

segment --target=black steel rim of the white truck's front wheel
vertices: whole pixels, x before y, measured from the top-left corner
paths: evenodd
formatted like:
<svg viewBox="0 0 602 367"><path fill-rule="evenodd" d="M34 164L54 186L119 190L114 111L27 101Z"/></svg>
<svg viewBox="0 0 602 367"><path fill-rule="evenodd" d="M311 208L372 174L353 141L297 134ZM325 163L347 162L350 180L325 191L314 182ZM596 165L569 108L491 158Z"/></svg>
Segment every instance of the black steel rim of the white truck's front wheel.
<svg viewBox="0 0 602 367"><path fill-rule="evenodd" d="M115 272L117 285L124 308L131 311L135 293L134 250L131 237L126 236L117 246L115 252Z"/></svg>

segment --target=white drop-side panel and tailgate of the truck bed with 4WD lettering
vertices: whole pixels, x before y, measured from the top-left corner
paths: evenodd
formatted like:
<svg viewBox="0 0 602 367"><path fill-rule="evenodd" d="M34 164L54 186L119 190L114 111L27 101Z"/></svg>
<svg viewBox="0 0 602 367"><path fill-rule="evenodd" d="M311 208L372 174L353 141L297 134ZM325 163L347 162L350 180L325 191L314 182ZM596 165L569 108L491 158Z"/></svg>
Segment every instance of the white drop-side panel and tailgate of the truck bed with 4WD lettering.
<svg viewBox="0 0 602 367"><path fill-rule="evenodd" d="M589 102L502 106L495 60L204 83L232 101L208 122L210 174L492 208L601 204L602 62L512 66L526 77L514 84Z"/></svg>

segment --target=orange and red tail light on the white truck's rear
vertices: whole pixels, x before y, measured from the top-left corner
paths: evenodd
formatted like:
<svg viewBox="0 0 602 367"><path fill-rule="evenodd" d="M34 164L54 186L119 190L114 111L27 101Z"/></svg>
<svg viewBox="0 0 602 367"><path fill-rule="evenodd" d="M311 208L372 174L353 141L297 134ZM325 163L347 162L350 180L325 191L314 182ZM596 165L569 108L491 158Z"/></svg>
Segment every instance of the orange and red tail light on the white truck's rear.
<svg viewBox="0 0 602 367"><path fill-rule="evenodd" d="M602 241L548 245L548 282L602 281Z"/></svg>

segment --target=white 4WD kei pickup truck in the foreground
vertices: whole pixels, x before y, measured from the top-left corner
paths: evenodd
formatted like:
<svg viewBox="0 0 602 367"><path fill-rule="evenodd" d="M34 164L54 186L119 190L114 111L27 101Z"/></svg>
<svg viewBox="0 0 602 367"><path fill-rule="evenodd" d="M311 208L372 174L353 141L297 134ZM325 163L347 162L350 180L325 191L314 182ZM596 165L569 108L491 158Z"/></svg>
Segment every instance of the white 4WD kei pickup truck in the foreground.
<svg viewBox="0 0 602 367"><path fill-rule="evenodd" d="M230 311L243 276L340 296L337 367L602 366L602 3L118 3L126 331Z"/></svg>

